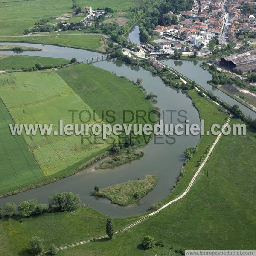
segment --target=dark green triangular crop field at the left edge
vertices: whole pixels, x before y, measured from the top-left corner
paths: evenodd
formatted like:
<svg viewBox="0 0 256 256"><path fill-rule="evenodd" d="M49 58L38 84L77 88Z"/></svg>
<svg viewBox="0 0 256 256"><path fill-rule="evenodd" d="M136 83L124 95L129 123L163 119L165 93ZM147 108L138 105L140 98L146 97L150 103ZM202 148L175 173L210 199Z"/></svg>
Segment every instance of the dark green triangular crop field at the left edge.
<svg viewBox="0 0 256 256"><path fill-rule="evenodd" d="M9 124L14 122L0 99L0 194L43 177L25 140L12 136Z"/></svg>

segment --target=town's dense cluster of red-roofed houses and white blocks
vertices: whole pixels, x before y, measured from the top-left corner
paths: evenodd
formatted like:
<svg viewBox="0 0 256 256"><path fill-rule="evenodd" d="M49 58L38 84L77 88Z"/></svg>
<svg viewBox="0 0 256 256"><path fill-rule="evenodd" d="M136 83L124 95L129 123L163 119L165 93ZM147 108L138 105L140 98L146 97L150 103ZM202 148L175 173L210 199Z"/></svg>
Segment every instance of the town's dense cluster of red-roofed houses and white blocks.
<svg viewBox="0 0 256 256"><path fill-rule="evenodd" d="M181 12L177 25L157 26L153 34L171 33L183 39L190 40L197 47L203 48L214 36L220 35L224 29L224 13L221 9L222 0L198 0L199 6L189 11ZM235 42L235 32L238 30L256 32L256 20L253 15L241 14L239 7L243 4L255 4L253 0L227 0L226 9L230 14L231 27L229 41ZM173 16L173 12L166 15ZM163 46L167 48L166 46Z"/></svg>

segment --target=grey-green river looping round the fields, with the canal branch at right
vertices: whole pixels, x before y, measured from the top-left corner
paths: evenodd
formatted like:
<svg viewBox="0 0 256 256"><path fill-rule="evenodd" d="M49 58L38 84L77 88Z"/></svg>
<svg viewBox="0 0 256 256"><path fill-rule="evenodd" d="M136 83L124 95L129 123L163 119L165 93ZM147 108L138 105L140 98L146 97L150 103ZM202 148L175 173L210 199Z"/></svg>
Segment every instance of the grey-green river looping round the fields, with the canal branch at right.
<svg viewBox="0 0 256 256"><path fill-rule="evenodd" d="M98 52L52 45L22 43L8 44L26 45L43 49L43 51L40 52L23 52L20 55L36 55L66 59L75 57L79 60L100 55ZM13 55L15 53L0 51L0 55L4 54ZM253 116L254 118L256 117L256 113L250 111L250 109L239 104L239 102L236 102L236 100L222 93L220 90L209 86L207 81L211 79L211 75L199 66L199 61L177 62L167 60L165 64L175 68L190 79L195 80L199 85L207 90L211 90L227 103L231 105L235 103L238 104L242 111L247 115ZM166 87L158 76L152 75L141 67L128 65L119 60L99 61L94 63L94 65L110 72L114 72L118 76L125 76L134 81L136 81L138 77L142 78L142 85L145 87L147 92L149 93L152 91L157 94L158 98L156 105L159 106L162 111L176 111L173 113L172 120L170 112L164 115L166 123L173 122L176 124L183 121L184 118L179 117L177 112L182 111L181 114L184 115L184 111L186 111L185 116L189 119L190 124L200 124L198 111L193 107L191 100L186 97L186 94L181 93L180 90L174 90L170 87ZM180 119L180 121L178 119ZM174 140L175 143L173 143ZM145 148L143 148L145 155L140 160L133 161L132 163L125 164L114 169L96 171L93 170L93 167L95 166L93 165L75 175L64 178L55 183L6 198L1 198L0 205L5 204L7 201L13 201L16 204L20 204L21 201L32 198L37 198L39 202L47 203L49 195L53 195L57 192L71 191L75 194L79 194L84 203L88 203L91 207L111 217L125 217L139 214L147 211L152 203L161 201L169 195L183 165L184 148L187 146L197 145L198 141L199 136L192 135L174 136L173 138L157 136L154 140L151 140ZM134 180L138 177L144 177L147 174L157 175L157 185L136 204L132 204L127 207L120 207L116 204L111 204L107 199L90 196L90 193L93 191L93 186L95 185L99 185L101 188L104 188L117 183Z"/></svg>

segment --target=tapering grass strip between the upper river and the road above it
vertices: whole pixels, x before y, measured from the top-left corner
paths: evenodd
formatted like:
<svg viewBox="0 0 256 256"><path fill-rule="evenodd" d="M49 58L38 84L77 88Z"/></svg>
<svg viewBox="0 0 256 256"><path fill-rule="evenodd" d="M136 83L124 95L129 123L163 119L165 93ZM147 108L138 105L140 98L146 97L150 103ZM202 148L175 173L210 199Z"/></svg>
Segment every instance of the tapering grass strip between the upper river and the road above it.
<svg viewBox="0 0 256 256"><path fill-rule="evenodd" d="M105 52L106 39L99 35L48 35L28 37L0 37L0 42L25 42L35 44L55 44L99 52Z"/></svg>

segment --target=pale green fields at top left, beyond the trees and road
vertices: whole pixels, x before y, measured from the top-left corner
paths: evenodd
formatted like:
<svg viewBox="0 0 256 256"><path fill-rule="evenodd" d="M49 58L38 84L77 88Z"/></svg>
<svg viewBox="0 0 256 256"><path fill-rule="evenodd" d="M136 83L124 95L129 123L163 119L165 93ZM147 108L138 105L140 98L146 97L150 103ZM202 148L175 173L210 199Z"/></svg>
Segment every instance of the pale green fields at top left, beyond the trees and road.
<svg viewBox="0 0 256 256"><path fill-rule="evenodd" d="M111 7L117 11L126 11L132 6L142 3L142 0L77 0L82 9L92 6L93 9ZM22 35L24 29L29 29L41 18L57 17L72 12L70 0L0 0L0 35ZM57 23L52 19L52 23Z"/></svg>

